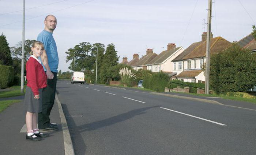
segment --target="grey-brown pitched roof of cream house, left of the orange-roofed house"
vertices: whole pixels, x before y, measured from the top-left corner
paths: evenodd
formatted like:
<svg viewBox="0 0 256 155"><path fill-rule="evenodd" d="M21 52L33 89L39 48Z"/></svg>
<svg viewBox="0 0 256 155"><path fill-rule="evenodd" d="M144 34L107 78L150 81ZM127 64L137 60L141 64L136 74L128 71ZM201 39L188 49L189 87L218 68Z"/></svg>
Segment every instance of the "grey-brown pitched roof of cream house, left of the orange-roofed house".
<svg viewBox="0 0 256 155"><path fill-rule="evenodd" d="M169 56L171 56L174 52L178 51L181 47L172 48L169 51L165 50L157 55L154 59L148 62L148 64L159 64L165 61Z"/></svg>

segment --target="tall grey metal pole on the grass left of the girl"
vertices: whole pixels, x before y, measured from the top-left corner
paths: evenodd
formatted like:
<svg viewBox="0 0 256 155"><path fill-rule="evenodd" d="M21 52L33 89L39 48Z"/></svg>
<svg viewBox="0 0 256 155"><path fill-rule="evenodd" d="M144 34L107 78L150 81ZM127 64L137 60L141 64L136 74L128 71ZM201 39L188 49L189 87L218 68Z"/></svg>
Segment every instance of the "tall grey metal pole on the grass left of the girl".
<svg viewBox="0 0 256 155"><path fill-rule="evenodd" d="M22 56L21 56L20 93L23 93L23 91L24 91L24 35L25 35L25 0L23 0Z"/></svg>

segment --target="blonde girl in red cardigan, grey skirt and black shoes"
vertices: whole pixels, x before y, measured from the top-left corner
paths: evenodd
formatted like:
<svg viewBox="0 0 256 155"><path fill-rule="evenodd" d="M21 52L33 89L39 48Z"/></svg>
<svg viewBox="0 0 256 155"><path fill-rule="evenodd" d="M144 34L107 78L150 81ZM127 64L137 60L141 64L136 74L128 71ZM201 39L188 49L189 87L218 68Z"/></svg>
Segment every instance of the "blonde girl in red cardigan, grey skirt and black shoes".
<svg viewBox="0 0 256 155"><path fill-rule="evenodd" d="M38 57L44 50L44 44L35 41L31 47L30 58L26 64L27 88L25 94L25 110L27 135L26 140L38 141L48 137L49 134L42 134L37 128L38 112L42 111L42 88L47 86L46 75Z"/></svg>

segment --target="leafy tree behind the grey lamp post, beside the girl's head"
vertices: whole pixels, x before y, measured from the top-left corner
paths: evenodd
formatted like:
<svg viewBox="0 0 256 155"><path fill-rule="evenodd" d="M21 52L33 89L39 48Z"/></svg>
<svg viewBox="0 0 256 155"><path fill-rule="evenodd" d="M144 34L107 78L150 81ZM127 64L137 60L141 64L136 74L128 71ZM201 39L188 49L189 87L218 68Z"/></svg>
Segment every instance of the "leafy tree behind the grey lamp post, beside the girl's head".
<svg viewBox="0 0 256 155"><path fill-rule="evenodd" d="M26 64L27 60L29 60L30 57L30 51L31 51L31 47L32 44L34 43L34 41L36 40L25 40L24 42L24 62ZM18 58L21 60L22 57L22 41L19 41L15 47L11 47L11 55L14 58Z"/></svg>

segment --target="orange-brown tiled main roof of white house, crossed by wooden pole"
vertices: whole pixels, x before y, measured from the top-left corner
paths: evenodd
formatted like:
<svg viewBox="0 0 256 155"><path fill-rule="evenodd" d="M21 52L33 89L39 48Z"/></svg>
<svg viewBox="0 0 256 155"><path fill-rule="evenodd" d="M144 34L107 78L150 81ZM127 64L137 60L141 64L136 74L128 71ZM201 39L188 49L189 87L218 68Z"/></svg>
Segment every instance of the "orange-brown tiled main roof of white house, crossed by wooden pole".
<svg viewBox="0 0 256 155"><path fill-rule="evenodd" d="M210 41L210 52L211 54L218 53L223 49L226 49L230 45L232 44L222 37L212 38ZM192 52L190 52L183 59L193 59L198 57L206 57L206 41L204 41L202 44L197 46Z"/></svg>

